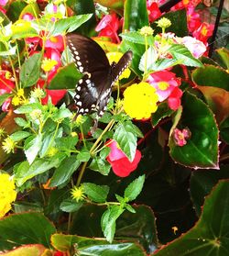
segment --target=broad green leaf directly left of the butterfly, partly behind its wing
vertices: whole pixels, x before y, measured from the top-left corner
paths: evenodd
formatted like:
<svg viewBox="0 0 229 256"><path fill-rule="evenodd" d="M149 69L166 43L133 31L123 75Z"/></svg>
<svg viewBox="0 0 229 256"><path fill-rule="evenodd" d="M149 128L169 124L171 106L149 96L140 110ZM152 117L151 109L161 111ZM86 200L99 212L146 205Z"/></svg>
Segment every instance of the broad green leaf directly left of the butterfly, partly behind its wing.
<svg viewBox="0 0 229 256"><path fill-rule="evenodd" d="M74 89L75 84L82 78L74 63L61 67L49 83L49 90Z"/></svg>

